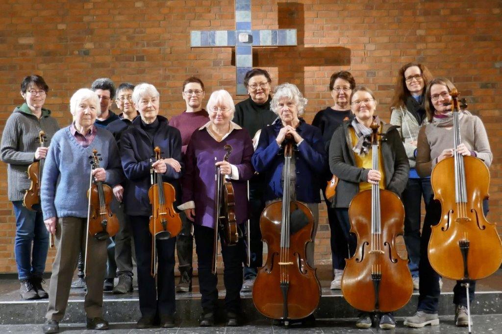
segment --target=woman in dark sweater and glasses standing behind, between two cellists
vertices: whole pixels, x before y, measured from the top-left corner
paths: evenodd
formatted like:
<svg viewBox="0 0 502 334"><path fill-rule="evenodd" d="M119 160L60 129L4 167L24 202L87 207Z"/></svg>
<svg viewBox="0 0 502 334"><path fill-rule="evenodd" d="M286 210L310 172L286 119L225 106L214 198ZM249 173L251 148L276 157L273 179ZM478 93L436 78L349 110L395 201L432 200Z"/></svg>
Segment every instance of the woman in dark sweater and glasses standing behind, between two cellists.
<svg viewBox="0 0 502 334"><path fill-rule="evenodd" d="M331 75L329 81L329 91L333 98L334 105L319 111L312 121L312 125L321 129L322 138L326 152L329 148L329 142L335 129L343 123L345 118L351 118L349 98L352 89L355 87L355 80L352 74L347 71L335 72ZM329 170L326 171L326 181L330 180L332 175ZM325 196L325 193L323 192ZM331 290L340 290L343 269L345 268L345 259L350 257L348 253L349 246L346 240L352 240L349 231L345 231L336 218L335 209L331 207L326 196L324 197L328 211L329 229L331 231L331 257L333 264L333 281ZM354 241L355 242L355 241Z"/></svg>

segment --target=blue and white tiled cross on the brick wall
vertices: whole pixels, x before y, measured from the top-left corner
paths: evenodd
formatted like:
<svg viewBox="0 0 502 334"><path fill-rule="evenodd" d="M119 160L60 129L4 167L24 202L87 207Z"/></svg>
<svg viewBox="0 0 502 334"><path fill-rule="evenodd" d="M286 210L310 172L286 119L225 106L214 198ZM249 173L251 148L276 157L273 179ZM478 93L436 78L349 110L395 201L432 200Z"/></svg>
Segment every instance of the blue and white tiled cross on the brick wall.
<svg viewBox="0 0 502 334"><path fill-rule="evenodd" d="M235 30L190 32L192 48L235 47L235 91L246 95L244 75L253 68L254 46L296 46L296 29L251 29L251 0L235 0Z"/></svg>

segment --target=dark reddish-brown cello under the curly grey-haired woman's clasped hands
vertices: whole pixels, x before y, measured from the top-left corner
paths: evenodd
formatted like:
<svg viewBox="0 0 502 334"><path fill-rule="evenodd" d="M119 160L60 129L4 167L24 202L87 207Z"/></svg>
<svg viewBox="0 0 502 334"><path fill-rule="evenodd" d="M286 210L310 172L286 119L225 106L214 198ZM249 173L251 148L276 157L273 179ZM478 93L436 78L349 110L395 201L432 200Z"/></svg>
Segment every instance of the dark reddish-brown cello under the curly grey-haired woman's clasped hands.
<svg viewBox="0 0 502 334"><path fill-rule="evenodd" d="M310 209L291 200L290 173L294 141L286 137L282 201L269 204L260 218L263 241L269 252L258 271L253 302L263 315L284 321L302 319L319 304L321 287L316 269L306 260L307 243L312 242L314 218Z"/></svg>

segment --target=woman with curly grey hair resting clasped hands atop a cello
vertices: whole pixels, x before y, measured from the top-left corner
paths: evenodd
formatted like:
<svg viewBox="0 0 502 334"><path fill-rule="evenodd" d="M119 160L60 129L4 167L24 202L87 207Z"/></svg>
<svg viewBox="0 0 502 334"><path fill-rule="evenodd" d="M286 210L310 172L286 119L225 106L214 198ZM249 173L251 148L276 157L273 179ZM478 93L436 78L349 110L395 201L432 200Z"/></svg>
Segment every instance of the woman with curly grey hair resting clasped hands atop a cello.
<svg viewBox="0 0 502 334"><path fill-rule="evenodd" d="M276 87L270 108L278 116L272 125L262 129L258 147L253 155L255 170L267 179L265 200L282 199L284 185L284 142L290 134L294 140L291 166L292 200L305 203L314 217L312 242L307 244L307 262L314 266L314 239L319 222L320 189L327 170L326 150L321 130L300 118L307 99L290 83Z"/></svg>

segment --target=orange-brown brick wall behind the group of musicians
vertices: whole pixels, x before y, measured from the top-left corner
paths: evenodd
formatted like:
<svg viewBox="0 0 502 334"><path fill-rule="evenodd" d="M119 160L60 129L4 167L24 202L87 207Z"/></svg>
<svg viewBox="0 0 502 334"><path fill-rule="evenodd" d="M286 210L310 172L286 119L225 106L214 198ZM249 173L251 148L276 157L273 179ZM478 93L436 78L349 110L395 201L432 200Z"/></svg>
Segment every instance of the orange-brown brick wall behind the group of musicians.
<svg viewBox="0 0 502 334"><path fill-rule="evenodd" d="M335 3L335 4L333 4ZM494 153L490 168L491 222L502 218L502 23L499 1L326 1L252 2L253 28L298 30L297 47L256 48L254 65L266 68L273 84L297 84L309 99L306 119L332 105L334 71L349 70L373 89L378 112L390 117L397 70L425 63L446 76L481 116ZM181 83L198 75L207 92L235 93L232 48L191 49L190 30L234 29L231 0L39 1L0 4L0 130L23 102L25 75L42 75L50 86L45 107L61 125L70 122L69 98L94 78L115 83L150 82L161 94L161 113L184 108ZM209 28L210 27L210 28ZM243 97L235 98L236 102ZM0 272L16 272L15 219L7 198L6 165L0 164ZM330 263L329 229L321 213L317 263ZM500 230L499 230L500 231ZM53 251L49 253L47 269Z"/></svg>

